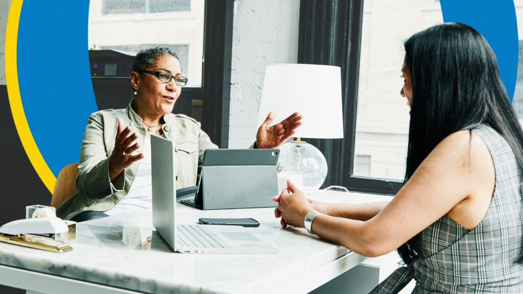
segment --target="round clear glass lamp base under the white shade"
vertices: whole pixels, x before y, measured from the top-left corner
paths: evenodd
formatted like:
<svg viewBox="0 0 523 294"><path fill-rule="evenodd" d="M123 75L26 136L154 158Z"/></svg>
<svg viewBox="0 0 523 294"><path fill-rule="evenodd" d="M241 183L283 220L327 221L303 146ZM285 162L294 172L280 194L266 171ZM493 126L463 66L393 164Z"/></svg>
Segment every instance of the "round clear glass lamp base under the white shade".
<svg viewBox="0 0 523 294"><path fill-rule="evenodd" d="M280 146L279 184L290 179L304 191L317 190L325 182L327 170L325 156L313 145L293 141ZM278 188L281 192L280 185Z"/></svg>

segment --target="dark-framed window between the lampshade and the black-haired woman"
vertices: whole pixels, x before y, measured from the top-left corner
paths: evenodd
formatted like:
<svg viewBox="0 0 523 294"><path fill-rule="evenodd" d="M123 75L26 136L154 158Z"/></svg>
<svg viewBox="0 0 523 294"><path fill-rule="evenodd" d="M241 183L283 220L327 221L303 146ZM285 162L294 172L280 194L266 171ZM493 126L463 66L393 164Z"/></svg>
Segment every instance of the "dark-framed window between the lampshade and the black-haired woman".
<svg viewBox="0 0 523 294"><path fill-rule="evenodd" d="M342 69L343 139L309 139L327 159L323 187L395 194L403 185L408 106L401 97L403 41L442 22L434 0L300 5L298 62Z"/></svg>

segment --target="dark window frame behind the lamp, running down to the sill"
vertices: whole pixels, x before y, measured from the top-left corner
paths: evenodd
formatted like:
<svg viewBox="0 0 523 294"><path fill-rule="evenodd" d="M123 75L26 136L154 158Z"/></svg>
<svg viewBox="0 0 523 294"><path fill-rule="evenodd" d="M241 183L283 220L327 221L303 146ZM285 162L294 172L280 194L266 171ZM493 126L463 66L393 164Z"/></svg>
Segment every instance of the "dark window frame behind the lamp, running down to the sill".
<svg viewBox="0 0 523 294"><path fill-rule="evenodd" d="M308 139L328 164L322 188L341 185L350 191L395 195L403 181L354 175L358 80L363 0L301 0L298 63L342 69L343 139Z"/></svg>

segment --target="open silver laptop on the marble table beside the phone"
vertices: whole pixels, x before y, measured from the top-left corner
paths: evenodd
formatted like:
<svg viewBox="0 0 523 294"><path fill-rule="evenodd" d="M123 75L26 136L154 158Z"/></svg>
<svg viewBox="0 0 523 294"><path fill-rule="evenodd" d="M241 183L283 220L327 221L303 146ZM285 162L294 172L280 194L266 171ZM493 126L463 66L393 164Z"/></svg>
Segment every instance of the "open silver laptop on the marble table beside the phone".
<svg viewBox="0 0 523 294"><path fill-rule="evenodd" d="M176 252L277 253L246 228L176 223L176 160L173 142L151 135L153 226ZM252 230L252 229L251 229Z"/></svg>

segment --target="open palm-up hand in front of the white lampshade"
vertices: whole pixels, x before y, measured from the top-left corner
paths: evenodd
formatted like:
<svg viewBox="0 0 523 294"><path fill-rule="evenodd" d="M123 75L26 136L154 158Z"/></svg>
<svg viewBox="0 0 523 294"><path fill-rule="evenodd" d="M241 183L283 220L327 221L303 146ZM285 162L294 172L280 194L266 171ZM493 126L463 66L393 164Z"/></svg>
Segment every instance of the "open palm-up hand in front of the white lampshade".
<svg viewBox="0 0 523 294"><path fill-rule="evenodd" d="M296 128L301 125L302 122L300 120L302 118L298 112L294 112L280 123L271 126L270 124L274 119L274 111L271 111L256 133L254 147L267 149L278 147L283 141L291 137Z"/></svg>

